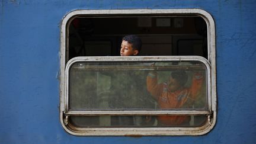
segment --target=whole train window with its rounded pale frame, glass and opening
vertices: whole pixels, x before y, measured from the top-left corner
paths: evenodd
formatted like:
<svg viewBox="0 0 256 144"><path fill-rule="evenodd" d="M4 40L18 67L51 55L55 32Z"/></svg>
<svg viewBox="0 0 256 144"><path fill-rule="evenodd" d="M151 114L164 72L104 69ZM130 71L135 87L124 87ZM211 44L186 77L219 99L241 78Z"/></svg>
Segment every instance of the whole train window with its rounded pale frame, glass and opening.
<svg viewBox="0 0 256 144"><path fill-rule="evenodd" d="M215 125L215 25L207 12L79 10L63 19L61 34L67 132L203 135ZM139 56L119 56L127 34L142 39Z"/></svg>

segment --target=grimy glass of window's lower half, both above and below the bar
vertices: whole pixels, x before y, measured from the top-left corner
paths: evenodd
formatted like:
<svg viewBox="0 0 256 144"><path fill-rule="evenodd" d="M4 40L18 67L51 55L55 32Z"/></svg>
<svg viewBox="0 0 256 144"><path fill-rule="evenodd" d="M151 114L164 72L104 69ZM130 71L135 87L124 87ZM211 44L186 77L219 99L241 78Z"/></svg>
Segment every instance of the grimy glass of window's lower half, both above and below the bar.
<svg viewBox="0 0 256 144"><path fill-rule="evenodd" d="M207 110L207 69L199 61L76 62L69 110ZM79 127L194 127L206 116L74 116Z"/></svg>

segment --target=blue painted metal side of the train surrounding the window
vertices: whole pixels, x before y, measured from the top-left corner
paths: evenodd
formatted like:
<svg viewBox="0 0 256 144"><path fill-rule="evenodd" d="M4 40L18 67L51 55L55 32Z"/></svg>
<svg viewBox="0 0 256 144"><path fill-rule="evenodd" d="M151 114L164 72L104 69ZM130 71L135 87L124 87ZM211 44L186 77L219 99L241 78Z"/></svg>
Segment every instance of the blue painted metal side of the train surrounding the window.
<svg viewBox="0 0 256 144"><path fill-rule="evenodd" d="M0 143L254 143L256 1L0 1ZM216 23L217 124L204 136L78 137L59 122L60 21L74 9L200 8Z"/></svg>

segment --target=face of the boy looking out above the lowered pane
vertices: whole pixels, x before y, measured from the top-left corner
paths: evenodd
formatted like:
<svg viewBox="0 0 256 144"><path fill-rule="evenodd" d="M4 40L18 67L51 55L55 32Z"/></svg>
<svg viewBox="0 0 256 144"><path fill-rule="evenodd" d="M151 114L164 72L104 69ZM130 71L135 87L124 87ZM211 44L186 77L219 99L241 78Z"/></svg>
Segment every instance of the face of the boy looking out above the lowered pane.
<svg viewBox="0 0 256 144"><path fill-rule="evenodd" d="M139 51L134 50L132 44L128 43L128 41L123 40L121 43L121 56L136 56Z"/></svg>

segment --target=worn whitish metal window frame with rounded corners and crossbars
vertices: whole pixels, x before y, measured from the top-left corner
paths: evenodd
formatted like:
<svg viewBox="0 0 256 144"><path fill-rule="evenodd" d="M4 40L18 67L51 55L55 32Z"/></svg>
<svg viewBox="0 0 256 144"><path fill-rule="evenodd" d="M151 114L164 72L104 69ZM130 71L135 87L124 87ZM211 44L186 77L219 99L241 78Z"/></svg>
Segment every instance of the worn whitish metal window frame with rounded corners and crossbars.
<svg viewBox="0 0 256 144"><path fill-rule="evenodd" d="M103 116L105 114L126 114L126 115L151 115L151 114L180 114L180 111L68 111L68 70L72 63L80 61L94 61L101 60L123 60L129 61L135 57L75 57L66 63L68 59L67 44L68 44L68 30L66 29L73 18L79 15L137 15L137 14L170 14L170 15L200 15L207 24L207 41L208 41L208 59L200 56L167 56L162 57L167 60L198 60L203 62L207 67L207 89L210 111L200 111L200 114L208 116L208 123L201 127L119 127L119 128L79 128L68 126L68 116L90 116L95 115ZM216 54L215 54L215 23L212 16L201 9L110 9L110 10L76 10L69 12L62 21L60 33L60 121L66 132L77 136L127 136L127 135L204 135L213 129L216 123L217 116L217 95L216 95ZM148 59L157 60L159 56L146 57ZM140 59L140 58L136 58ZM184 115L198 114L199 111L183 111Z"/></svg>

